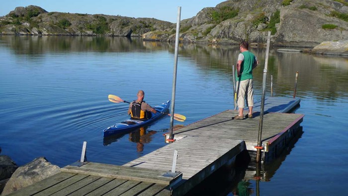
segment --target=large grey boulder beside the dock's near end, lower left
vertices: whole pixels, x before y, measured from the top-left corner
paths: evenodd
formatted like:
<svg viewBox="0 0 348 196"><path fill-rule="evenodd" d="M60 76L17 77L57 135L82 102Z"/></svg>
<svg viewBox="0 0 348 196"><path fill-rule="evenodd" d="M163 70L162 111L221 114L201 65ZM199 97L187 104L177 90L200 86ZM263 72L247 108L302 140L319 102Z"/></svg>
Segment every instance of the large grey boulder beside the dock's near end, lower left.
<svg viewBox="0 0 348 196"><path fill-rule="evenodd" d="M32 162L19 167L7 182L1 196L8 195L18 189L32 185L45 178L60 172L60 168L52 165L44 157L34 159Z"/></svg>

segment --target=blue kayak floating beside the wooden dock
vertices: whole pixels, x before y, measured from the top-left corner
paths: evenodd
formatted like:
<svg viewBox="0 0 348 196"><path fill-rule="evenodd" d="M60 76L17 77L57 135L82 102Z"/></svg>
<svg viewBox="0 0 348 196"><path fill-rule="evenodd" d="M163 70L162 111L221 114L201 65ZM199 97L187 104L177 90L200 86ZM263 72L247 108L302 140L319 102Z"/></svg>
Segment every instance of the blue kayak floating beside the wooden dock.
<svg viewBox="0 0 348 196"><path fill-rule="evenodd" d="M153 108L157 110L156 113L151 112L151 117L147 120L132 120L126 119L120 123L117 123L113 126L108 127L103 130L103 137L108 137L116 134L127 133L133 129L145 126L151 122L156 121L168 111L171 101L164 102L160 105L154 106Z"/></svg>

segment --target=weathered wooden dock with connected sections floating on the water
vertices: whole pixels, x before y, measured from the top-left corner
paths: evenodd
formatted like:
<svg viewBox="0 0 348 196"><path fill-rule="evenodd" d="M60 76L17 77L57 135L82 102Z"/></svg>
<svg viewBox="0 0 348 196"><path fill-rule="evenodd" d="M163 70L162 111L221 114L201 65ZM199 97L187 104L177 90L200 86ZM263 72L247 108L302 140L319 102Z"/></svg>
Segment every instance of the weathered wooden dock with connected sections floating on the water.
<svg viewBox="0 0 348 196"><path fill-rule="evenodd" d="M299 98L265 99L263 161L277 157L300 129L302 114L279 113L289 112L299 102ZM223 111L175 130L175 142L123 166L87 162L66 166L61 173L11 195L184 195L222 166L233 167L241 152L256 151L259 103L254 111L254 118L244 120L232 120L238 114L235 110Z"/></svg>

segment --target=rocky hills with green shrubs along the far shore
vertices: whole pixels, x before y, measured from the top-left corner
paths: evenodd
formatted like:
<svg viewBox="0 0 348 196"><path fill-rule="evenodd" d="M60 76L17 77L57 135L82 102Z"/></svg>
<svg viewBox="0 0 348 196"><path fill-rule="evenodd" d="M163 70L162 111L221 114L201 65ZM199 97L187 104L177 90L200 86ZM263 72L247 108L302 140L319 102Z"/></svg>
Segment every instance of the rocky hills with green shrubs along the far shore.
<svg viewBox="0 0 348 196"><path fill-rule="evenodd" d="M251 6L252 5L252 6ZM180 42L315 47L348 37L348 3L338 0L227 0L180 21ZM176 24L155 18L47 12L29 5L0 17L0 35L141 37L174 42ZM336 54L336 53L335 53Z"/></svg>

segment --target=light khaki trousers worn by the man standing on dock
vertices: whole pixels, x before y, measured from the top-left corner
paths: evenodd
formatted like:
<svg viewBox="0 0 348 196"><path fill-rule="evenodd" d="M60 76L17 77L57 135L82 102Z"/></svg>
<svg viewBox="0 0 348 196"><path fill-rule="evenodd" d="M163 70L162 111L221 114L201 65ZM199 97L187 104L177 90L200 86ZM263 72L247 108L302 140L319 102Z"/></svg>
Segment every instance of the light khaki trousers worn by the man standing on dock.
<svg viewBox="0 0 348 196"><path fill-rule="evenodd" d="M240 84L239 84L240 82ZM247 107L254 107L253 79L237 81L237 105L244 108L247 100Z"/></svg>

